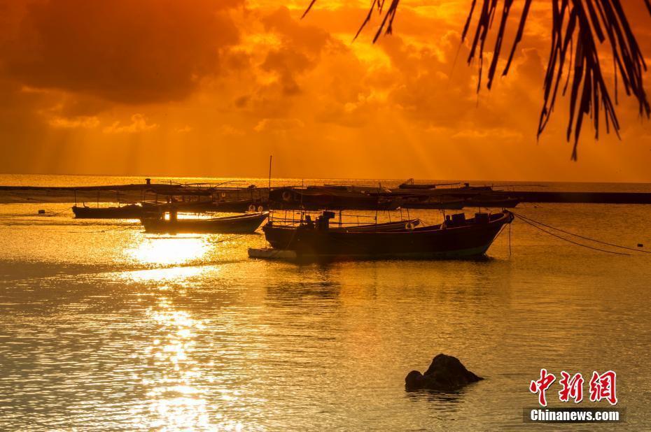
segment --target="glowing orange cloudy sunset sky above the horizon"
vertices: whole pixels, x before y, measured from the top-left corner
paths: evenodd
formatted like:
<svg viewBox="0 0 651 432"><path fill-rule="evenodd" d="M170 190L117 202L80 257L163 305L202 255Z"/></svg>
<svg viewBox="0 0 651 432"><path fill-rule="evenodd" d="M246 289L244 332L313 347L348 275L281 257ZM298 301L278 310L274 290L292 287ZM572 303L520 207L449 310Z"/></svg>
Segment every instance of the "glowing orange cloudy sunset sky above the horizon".
<svg viewBox="0 0 651 432"><path fill-rule="evenodd" d="M632 100L622 141L588 123L578 162L566 99L536 141L549 1L479 95L459 42L470 0L403 0L376 45L374 25L351 43L367 1L300 20L307 3L0 0L0 172L264 177L274 154L279 177L651 182ZM624 3L651 64L651 17Z"/></svg>

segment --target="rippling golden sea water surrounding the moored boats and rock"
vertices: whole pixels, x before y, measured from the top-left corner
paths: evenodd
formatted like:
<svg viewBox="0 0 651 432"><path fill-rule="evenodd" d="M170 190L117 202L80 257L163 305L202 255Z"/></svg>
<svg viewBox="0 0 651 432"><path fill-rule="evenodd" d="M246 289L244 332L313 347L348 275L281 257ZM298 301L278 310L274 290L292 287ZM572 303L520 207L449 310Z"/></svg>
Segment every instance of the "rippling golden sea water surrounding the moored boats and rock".
<svg viewBox="0 0 651 432"><path fill-rule="evenodd" d="M0 185L140 181L0 176ZM0 430L535 429L522 409L537 403L528 386L540 368L587 380L615 370L626 408L615 427L651 429L650 254L589 250L517 219L482 260L297 265L248 259L248 247L265 244L260 233L154 236L134 221L72 219L70 206L0 205ZM649 206L514 211L651 249ZM440 352L486 380L407 393L409 370ZM547 392L551 406L563 405L558 390ZM537 427L562 427L546 426Z"/></svg>

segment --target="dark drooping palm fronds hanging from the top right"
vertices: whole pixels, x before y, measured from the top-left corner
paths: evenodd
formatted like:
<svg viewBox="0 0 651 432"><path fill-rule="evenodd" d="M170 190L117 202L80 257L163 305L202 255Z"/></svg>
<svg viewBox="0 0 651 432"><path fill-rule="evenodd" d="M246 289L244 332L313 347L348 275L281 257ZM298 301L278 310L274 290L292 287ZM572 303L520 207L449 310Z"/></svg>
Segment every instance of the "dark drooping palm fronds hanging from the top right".
<svg viewBox="0 0 651 432"><path fill-rule="evenodd" d="M390 5L384 10L385 0L372 0L368 14L357 31L356 38L370 22L373 13L381 17L381 22L374 35L373 42L384 32L391 34L393 20L398 10L400 0L391 0ZM463 26L462 41L469 36L470 27L476 22L468 63L477 59L479 64L479 79L477 91L482 82L484 66L484 45L491 33L493 21L499 13L498 28L496 30L495 45L488 72L486 73L486 87L491 89L493 79L498 68L498 61L503 55L502 48L507 29L508 18L516 0L469 0L470 12ZM512 41L502 75L507 75L517 52L517 46L524 34L524 27L531 9L533 0L518 0L522 4L517 33ZM634 0L626 0L634 1ZM636 0L640 1L640 0ZM651 0L644 1L651 14ZM316 0L311 0L305 13L310 10ZM554 111L554 104L559 92L563 74L565 84L561 90L566 94L569 89L569 119L567 139L573 138L574 146L572 159L577 158L577 143L581 134L585 116L593 122L595 138L599 136L599 121L601 110L605 120L606 132L612 129L619 136L619 121L615 113L617 103L617 82L622 80L624 90L629 96L638 101L640 115L650 117L651 107L643 85L643 72L646 71L642 52L631 30L628 18L622 8L621 0L549 0L552 7L552 44L549 51L547 69L544 80L544 96L540 120L538 122L538 136L542 134ZM615 69L615 101L610 98L610 92L602 73L601 59L598 47L608 43L612 54Z"/></svg>

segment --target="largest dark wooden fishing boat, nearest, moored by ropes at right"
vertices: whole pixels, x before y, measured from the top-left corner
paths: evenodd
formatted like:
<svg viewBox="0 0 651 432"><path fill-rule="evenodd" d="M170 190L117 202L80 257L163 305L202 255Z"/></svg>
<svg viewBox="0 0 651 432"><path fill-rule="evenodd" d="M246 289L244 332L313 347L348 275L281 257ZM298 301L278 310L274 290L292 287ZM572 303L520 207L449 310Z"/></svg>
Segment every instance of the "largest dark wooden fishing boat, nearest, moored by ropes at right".
<svg viewBox="0 0 651 432"><path fill-rule="evenodd" d="M504 210L492 215L476 213L471 219L463 213L448 215L444 223L431 226L343 231L330 229L328 221L334 216L324 212L313 226L269 222L262 231L272 248L293 251L298 258L469 258L485 254L500 229L513 220L513 214Z"/></svg>

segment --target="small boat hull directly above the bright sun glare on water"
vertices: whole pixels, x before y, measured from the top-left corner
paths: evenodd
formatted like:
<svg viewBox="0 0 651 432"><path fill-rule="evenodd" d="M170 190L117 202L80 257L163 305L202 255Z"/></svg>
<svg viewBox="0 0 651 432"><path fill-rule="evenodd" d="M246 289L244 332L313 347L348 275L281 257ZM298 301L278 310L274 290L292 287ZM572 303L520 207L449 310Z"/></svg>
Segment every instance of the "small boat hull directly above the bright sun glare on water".
<svg viewBox="0 0 651 432"><path fill-rule="evenodd" d="M265 222L268 212L214 217L212 219L143 218L148 233L253 233Z"/></svg>

